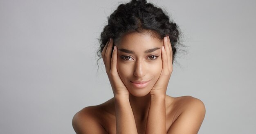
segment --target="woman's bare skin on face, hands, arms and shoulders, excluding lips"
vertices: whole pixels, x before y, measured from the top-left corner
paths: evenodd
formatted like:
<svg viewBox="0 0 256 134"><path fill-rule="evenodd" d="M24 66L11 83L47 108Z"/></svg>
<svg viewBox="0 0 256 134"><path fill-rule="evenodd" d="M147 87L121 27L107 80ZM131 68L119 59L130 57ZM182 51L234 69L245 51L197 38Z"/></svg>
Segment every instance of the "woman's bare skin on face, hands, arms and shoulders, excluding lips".
<svg viewBox="0 0 256 134"><path fill-rule="evenodd" d="M169 37L129 33L110 39L101 55L114 97L74 115L77 134L197 134L205 115L202 101L166 95L173 71ZM112 56L111 56L112 54ZM139 88L133 82L149 81ZM171 89L173 90L173 89Z"/></svg>

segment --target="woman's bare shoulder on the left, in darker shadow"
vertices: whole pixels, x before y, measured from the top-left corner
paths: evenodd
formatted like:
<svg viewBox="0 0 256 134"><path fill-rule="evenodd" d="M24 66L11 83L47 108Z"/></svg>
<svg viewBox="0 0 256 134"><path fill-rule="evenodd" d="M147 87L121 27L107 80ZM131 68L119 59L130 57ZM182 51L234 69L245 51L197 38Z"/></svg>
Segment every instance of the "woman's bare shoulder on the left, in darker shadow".
<svg viewBox="0 0 256 134"><path fill-rule="evenodd" d="M72 125L76 134L107 134L103 124L106 124L106 118L112 116L111 108L112 100L97 105L88 106L77 112L73 119Z"/></svg>

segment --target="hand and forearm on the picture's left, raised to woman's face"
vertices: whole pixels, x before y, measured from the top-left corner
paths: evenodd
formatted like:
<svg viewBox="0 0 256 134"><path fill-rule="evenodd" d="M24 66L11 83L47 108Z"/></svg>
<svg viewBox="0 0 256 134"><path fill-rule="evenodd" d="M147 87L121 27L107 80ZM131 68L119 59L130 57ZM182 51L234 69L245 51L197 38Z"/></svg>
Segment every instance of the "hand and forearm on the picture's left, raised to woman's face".
<svg viewBox="0 0 256 134"><path fill-rule="evenodd" d="M117 47L115 46L113 53L111 52L113 42L113 39L110 39L101 55L114 93L117 134L137 134L136 123L129 102L130 93L117 72Z"/></svg>

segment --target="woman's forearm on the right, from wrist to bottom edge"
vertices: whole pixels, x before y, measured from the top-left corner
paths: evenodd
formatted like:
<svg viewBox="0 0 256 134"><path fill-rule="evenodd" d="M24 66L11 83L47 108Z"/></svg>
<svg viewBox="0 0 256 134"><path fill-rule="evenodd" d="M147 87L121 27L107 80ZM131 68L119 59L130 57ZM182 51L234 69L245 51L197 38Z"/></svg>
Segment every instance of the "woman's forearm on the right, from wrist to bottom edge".
<svg viewBox="0 0 256 134"><path fill-rule="evenodd" d="M152 95L146 134L166 134L165 95Z"/></svg>

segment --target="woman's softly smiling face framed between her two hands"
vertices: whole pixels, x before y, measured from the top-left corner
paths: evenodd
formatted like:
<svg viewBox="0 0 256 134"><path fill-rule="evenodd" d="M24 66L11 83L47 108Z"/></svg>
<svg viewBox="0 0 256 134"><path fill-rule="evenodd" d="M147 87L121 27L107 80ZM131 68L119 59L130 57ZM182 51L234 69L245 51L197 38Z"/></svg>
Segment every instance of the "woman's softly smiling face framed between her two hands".
<svg viewBox="0 0 256 134"><path fill-rule="evenodd" d="M163 41L149 33L129 33L117 44L117 71L128 91L142 97L150 93L162 71Z"/></svg>

